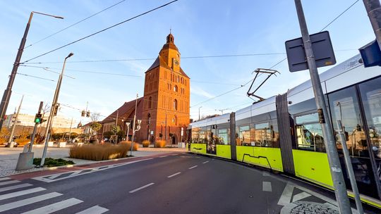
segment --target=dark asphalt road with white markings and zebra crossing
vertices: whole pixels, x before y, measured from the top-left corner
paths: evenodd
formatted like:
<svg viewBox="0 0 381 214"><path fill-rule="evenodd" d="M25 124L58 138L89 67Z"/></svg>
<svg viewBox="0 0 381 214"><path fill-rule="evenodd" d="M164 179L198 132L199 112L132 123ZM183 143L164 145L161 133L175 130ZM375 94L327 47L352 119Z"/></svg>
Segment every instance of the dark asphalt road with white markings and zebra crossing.
<svg viewBox="0 0 381 214"><path fill-rule="evenodd" d="M0 180L0 213L289 213L292 201L334 208L332 194L188 153Z"/></svg>

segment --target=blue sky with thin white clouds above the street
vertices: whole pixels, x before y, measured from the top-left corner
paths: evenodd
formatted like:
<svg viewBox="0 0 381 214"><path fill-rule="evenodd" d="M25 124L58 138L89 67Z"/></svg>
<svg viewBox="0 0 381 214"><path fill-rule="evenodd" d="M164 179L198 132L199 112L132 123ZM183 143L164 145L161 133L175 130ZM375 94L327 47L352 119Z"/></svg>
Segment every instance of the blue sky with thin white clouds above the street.
<svg viewBox="0 0 381 214"><path fill-rule="evenodd" d="M1 94L6 89L8 75L31 11L60 15L64 19L33 15L22 62L169 2L126 0L98 13L119 1L0 0ZM302 1L310 34L320 32L354 2ZM98 14L73 25L95 13ZM54 34L69 25L73 26ZM194 119L198 119L199 109L202 116L222 113L221 110L228 113L250 106L253 100L246 96L250 84L224 93L251 80L254 77L253 70L271 68L282 61L286 57L284 42L301 37L294 1L291 0L179 0L23 64L28 66L18 68L20 74L13 84L7 114L15 111L23 94L25 98L20 113L35 114L40 101L51 104L58 74L43 68L61 72L63 59L73 52L74 56L68 58L66 63L67 76L63 77L59 95L62 105L58 114L74 118L76 122L88 122L89 118L80 118L80 110L85 109L88 103L87 109L91 113L100 113L102 116L99 119L103 119L125 101L135 99L136 94L143 95L144 73L155 61L170 29L183 57L181 68L191 77L190 112ZM375 39L363 1L357 1L325 30L331 36L337 64L355 56L358 48ZM44 39L51 34L54 35ZM44 40L38 42L40 39ZM187 58L257 53L271 54ZM115 59L138 60L75 62ZM319 72L333 66L319 68ZM267 98L283 94L287 89L309 79L308 70L290 73L286 61L273 69L279 71L280 75L270 77L258 90L258 96ZM262 75L259 79L265 77ZM259 83L255 82L255 85ZM212 99L215 96L218 97Z"/></svg>

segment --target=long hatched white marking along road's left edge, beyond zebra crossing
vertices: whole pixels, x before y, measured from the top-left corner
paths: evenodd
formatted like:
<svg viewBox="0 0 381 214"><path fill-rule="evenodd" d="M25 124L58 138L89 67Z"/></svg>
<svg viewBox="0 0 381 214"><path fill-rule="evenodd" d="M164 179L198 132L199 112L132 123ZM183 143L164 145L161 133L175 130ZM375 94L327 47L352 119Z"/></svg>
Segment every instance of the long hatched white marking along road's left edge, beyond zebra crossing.
<svg viewBox="0 0 381 214"><path fill-rule="evenodd" d="M109 165L107 168L104 168L104 165L103 165L103 166L100 166L100 167L97 167L97 168L87 168L87 169L84 169L84 170L76 170L76 171L72 171L72 173L70 175L65 176L65 177L59 177L59 176L63 175L63 174L68 174L70 172L61 172L61 173L57 173L57 174L54 174L54 175L44 175L44 176L40 176L40 177L32 177L32 179L33 180L39 180L41 182L50 183L50 182L55 182L55 181L71 178L71 177L76 177L76 176L79 176L79 175L86 175L86 174L91 173L91 172L98 172L98 171L102 171L102 170L108 170L108 169L116 168L116 167L119 167L119 166L122 166L122 165L128 165L128 164L131 164L131 163L138 163L138 162L141 162L141 161L152 160L152 159L153 158L147 158L147 159L143 159L143 160L135 160L135 161L126 162L126 163L118 163L118 164L115 164L115 165ZM85 170L90 170L90 171L83 172ZM83 173L80 173L80 172L83 172ZM57 179L49 179L49 177L53 177L53 176L54 177L59 177L59 178L57 178Z"/></svg>

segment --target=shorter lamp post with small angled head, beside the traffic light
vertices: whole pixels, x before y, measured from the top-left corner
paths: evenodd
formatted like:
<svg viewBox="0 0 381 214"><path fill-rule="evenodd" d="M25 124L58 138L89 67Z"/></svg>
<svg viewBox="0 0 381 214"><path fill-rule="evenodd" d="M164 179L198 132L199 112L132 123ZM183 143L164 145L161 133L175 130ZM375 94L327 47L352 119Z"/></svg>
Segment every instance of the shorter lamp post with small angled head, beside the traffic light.
<svg viewBox="0 0 381 214"><path fill-rule="evenodd" d="M45 157L47 156L47 146L48 146L48 142L49 142L49 138L50 138L50 134L51 134L53 117L56 113L56 106L57 106L57 101L59 98L59 90L61 89L61 82L62 82L63 72L65 70L66 60L73 55L74 55L74 53L69 53L68 56L66 56L65 60L63 61L62 71L61 71L61 74L59 75L59 80L58 80L57 86L56 86L56 92L54 92L52 108L50 108L50 114L49 114L49 118L47 120L47 132L46 132L47 134L45 136L44 151L42 152L42 158L41 158L41 164L40 164L41 167L44 166Z"/></svg>

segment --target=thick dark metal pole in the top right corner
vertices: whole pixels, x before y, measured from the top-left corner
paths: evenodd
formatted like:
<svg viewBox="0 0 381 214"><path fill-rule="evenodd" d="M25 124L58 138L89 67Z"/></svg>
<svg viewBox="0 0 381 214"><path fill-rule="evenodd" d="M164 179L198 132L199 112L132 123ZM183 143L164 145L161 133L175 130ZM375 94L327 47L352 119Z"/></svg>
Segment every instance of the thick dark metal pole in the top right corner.
<svg viewBox="0 0 381 214"><path fill-rule="evenodd" d="M380 0L363 0L366 12L373 31L377 39L378 46L381 49L381 5Z"/></svg>

